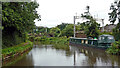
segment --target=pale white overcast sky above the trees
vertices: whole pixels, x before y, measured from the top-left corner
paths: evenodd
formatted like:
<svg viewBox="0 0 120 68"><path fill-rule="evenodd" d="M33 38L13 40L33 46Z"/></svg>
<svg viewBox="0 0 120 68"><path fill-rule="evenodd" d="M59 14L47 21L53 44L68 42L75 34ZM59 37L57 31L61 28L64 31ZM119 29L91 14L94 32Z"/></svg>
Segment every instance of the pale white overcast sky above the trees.
<svg viewBox="0 0 120 68"><path fill-rule="evenodd" d="M35 21L37 26L55 27L61 23L73 23L73 16L81 15L86 11L86 6L90 6L92 16L104 18L105 24L108 21L108 12L114 0L37 0L39 3L38 13L41 21ZM82 22L78 19L76 22ZM100 23L100 22L99 22Z"/></svg>

